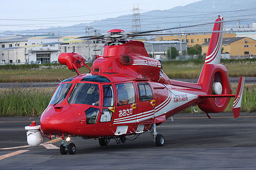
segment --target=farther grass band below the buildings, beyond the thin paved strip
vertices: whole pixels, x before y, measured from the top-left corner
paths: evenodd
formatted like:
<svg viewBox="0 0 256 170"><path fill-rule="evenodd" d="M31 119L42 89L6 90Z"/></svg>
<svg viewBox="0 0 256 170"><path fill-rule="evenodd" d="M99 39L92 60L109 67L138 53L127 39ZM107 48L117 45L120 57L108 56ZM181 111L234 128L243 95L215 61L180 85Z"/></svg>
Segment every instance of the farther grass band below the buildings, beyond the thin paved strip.
<svg viewBox="0 0 256 170"><path fill-rule="evenodd" d="M198 78L204 60L166 61L163 62L163 71L170 78ZM227 68L229 77L256 77L256 59L222 60ZM91 64L89 64L91 66ZM89 70L79 68L82 74ZM76 76L76 72L70 71L60 64L43 65L0 65L0 83L9 82L56 82Z"/></svg>

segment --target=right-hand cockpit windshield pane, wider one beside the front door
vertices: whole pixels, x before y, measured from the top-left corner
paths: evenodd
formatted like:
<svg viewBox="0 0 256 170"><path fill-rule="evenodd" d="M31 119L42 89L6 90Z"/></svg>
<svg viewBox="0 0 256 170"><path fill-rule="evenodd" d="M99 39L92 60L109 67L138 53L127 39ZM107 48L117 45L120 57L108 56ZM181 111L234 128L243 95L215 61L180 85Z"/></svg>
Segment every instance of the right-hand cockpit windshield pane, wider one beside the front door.
<svg viewBox="0 0 256 170"><path fill-rule="evenodd" d="M99 86L91 83L76 83L69 96L70 104L99 106Z"/></svg>

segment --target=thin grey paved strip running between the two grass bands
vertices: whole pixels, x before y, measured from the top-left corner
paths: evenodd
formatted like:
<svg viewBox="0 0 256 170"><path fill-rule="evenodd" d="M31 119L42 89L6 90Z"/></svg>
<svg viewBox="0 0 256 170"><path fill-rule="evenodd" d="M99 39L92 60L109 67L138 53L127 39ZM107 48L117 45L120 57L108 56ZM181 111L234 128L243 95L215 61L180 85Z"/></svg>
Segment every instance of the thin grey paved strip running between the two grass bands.
<svg viewBox="0 0 256 170"><path fill-rule="evenodd" d="M173 79L189 83L197 83L197 79ZM238 83L239 78L229 78L230 83ZM60 82L31 82L31 83L0 83L0 88L30 88L30 87L54 87L56 88ZM246 77L245 83L256 84L256 77Z"/></svg>

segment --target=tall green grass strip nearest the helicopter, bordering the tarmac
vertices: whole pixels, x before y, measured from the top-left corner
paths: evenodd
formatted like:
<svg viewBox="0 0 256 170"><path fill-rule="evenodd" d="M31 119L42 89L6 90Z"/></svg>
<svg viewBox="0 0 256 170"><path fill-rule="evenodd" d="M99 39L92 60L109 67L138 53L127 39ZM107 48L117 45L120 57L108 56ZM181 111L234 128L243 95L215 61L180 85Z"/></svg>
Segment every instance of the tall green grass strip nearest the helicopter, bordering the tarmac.
<svg viewBox="0 0 256 170"><path fill-rule="evenodd" d="M232 85L233 93L237 85ZM243 94L241 111L256 111L256 85L246 85ZM54 88L15 88L0 90L0 116L40 116L47 108ZM226 112L232 112L233 98ZM203 113L197 106L196 110ZM189 107L184 112L193 113Z"/></svg>

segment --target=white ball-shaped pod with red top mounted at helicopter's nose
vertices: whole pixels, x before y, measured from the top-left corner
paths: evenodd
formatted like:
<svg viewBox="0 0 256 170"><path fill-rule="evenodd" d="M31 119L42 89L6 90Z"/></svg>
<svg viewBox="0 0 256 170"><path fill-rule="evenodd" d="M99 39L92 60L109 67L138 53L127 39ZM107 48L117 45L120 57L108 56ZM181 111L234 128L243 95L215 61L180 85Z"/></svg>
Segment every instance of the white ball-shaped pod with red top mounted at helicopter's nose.
<svg viewBox="0 0 256 170"><path fill-rule="evenodd" d="M42 135L40 126L36 125L36 122L32 122L32 125L26 126L25 130L27 132L27 142L31 147L37 147L42 142Z"/></svg>

